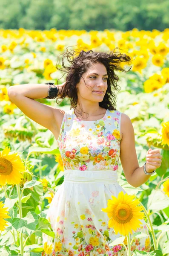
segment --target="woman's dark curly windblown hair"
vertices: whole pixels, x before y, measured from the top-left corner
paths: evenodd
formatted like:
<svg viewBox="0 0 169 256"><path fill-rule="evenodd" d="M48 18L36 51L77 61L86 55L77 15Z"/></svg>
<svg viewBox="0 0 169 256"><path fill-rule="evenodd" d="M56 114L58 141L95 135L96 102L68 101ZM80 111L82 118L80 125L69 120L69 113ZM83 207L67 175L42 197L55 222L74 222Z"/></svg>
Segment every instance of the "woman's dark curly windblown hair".
<svg viewBox="0 0 169 256"><path fill-rule="evenodd" d="M118 47L116 48L120 49ZM85 73L93 63L99 62L106 67L107 74L108 74L108 79L107 79L108 87L107 87L105 96L103 98L103 101L99 102L99 106L102 108L109 109L110 111L116 110L117 99L116 99L116 94L112 91L112 87L114 88L114 90L118 90L117 81L119 80L119 78L115 73L115 70L118 70L118 71L120 70L122 72L129 72L129 70L132 67L130 67L129 70L125 70L120 66L121 62L128 62L128 64L130 64L131 57L126 54L122 54L121 52L114 52L115 49L113 49L109 53L94 52L92 50L89 50L86 52L84 50L81 50L79 52L78 49L77 51L75 51L74 49L71 49L71 51L68 51L68 47L67 47L66 52L61 53L61 55L63 55L62 57L63 67L59 68L56 65L57 70L63 71L63 76L67 73L66 82L62 87L62 92L60 93L61 96L59 96L58 98L64 99L66 96L68 96L70 98L71 109L76 108L77 106L76 85L77 83L79 83L83 73ZM64 62L64 58L66 58L66 61L68 61L71 65L67 66ZM57 99L56 99L56 102L57 102Z"/></svg>

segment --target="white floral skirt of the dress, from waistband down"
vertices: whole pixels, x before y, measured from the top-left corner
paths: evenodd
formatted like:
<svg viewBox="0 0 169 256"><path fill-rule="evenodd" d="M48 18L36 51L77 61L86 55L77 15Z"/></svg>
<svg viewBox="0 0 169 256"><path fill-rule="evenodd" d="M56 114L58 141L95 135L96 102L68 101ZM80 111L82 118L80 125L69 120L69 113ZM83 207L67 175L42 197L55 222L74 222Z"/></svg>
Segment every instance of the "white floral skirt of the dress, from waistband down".
<svg viewBox="0 0 169 256"><path fill-rule="evenodd" d="M126 193L117 183L117 171L66 169L46 216L55 235L52 238L43 233L43 256L126 256L122 244L109 246L122 235L115 235L108 227L107 213L101 211L107 207L107 200L112 195L117 197L120 191ZM136 232L149 235L145 221L140 221L142 225ZM150 236L135 238L131 252L149 252L150 243Z"/></svg>

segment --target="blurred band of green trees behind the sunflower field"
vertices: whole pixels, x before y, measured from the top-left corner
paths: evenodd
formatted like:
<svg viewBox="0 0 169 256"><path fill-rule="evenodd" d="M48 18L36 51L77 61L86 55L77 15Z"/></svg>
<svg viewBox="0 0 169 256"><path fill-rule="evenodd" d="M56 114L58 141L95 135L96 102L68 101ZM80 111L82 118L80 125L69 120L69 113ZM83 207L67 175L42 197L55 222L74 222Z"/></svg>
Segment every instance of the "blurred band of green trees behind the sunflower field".
<svg viewBox="0 0 169 256"><path fill-rule="evenodd" d="M169 1L162 0L1 0L3 29L137 29L169 27Z"/></svg>

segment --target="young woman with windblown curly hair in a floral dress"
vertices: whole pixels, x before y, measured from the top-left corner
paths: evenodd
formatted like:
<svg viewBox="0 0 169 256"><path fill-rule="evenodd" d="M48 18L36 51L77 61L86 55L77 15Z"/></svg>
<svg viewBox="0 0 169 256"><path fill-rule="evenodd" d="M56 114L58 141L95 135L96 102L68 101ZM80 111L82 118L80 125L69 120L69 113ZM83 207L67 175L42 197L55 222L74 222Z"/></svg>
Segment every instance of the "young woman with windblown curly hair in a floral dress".
<svg viewBox="0 0 169 256"><path fill-rule="evenodd" d="M47 84L19 85L9 90L10 99L23 113L52 131L63 159L64 181L46 216L55 237L43 235L43 255L126 255L122 244L109 246L120 234L115 235L108 227L107 213L101 211L112 195L126 193L117 183L119 158L126 180L138 187L160 167L162 156L158 149L149 148L146 172L139 167L132 122L116 109L115 71L126 72L120 63L130 61L130 57L92 50L79 55L67 50L64 57L71 65L62 61L63 68L58 68L67 76L65 83L57 85L57 96L70 98L69 111L34 101L47 96ZM149 234L144 220L141 222L139 231ZM146 239L133 241L131 251L149 251L150 239Z"/></svg>

